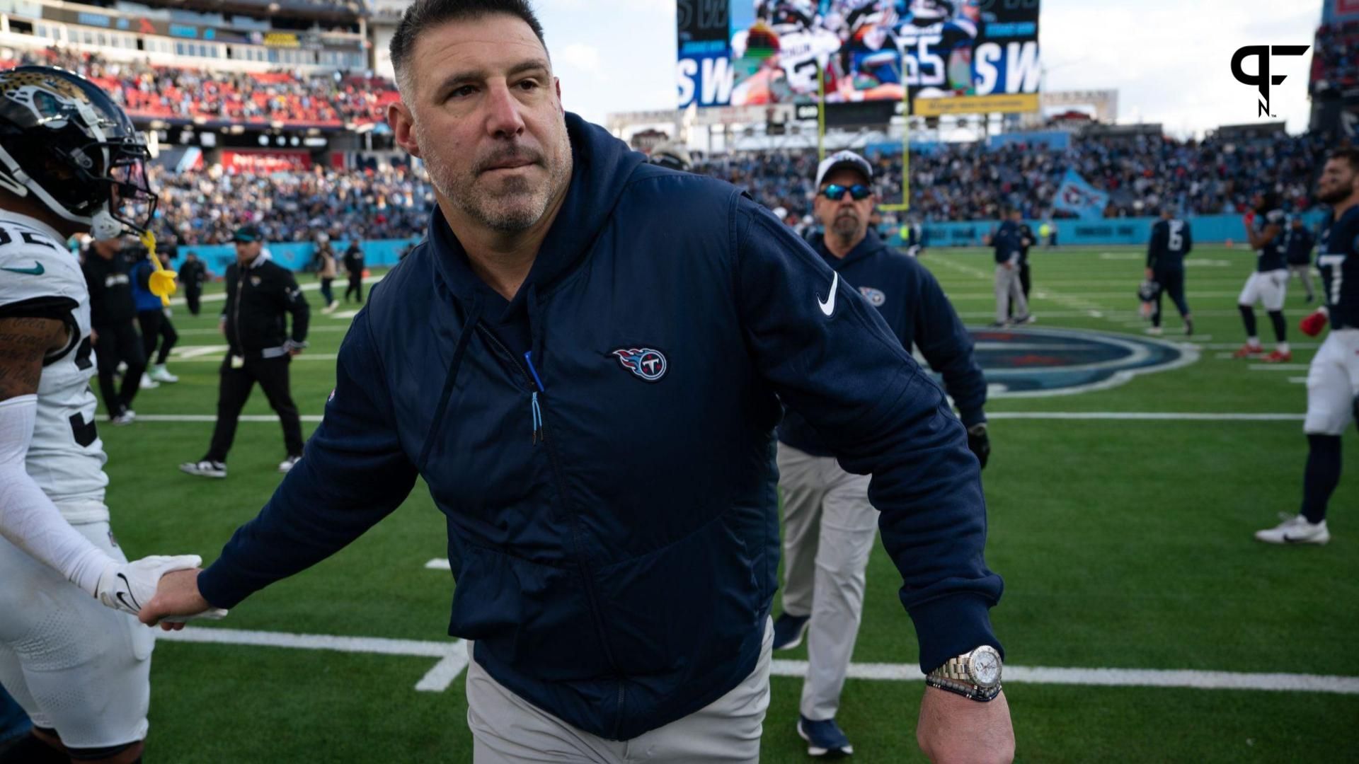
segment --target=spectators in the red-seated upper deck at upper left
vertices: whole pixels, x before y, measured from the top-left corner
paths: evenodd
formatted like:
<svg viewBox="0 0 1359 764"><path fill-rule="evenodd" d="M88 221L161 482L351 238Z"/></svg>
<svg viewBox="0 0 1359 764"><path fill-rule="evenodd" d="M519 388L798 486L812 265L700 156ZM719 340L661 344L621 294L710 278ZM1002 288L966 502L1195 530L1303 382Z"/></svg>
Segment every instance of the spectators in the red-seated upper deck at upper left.
<svg viewBox="0 0 1359 764"><path fill-rule="evenodd" d="M381 77L183 69L54 46L0 61L0 68L15 64L49 64L87 76L133 118L340 128L385 121L387 103L400 98L397 86Z"/></svg>

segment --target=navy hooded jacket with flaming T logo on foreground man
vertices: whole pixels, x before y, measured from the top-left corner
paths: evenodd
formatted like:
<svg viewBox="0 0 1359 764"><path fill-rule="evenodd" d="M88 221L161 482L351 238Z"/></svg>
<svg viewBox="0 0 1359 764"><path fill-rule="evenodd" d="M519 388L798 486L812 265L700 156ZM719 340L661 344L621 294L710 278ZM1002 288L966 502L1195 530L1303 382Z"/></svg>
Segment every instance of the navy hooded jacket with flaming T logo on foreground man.
<svg viewBox="0 0 1359 764"><path fill-rule="evenodd" d="M447 519L448 633L534 706L636 737L754 669L781 400L874 473L921 667L996 644L977 459L878 311L731 185L567 125L571 186L515 298L489 300L436 211L355 317L306 455L202 595L234 606L333 555L420 476Z"/></svg>

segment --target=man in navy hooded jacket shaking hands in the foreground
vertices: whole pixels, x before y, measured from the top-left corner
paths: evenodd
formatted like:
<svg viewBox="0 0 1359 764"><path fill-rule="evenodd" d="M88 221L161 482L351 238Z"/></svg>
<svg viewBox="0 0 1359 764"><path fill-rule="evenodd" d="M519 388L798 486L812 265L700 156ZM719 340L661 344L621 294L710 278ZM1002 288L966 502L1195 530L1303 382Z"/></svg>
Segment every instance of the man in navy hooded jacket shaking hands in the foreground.
<svg viewBox="0 0 1359 764"><path fill-rule="evenodd" d="M924 691L921 748L1007 761L999 665L965 658L999 648L977 459L878 311L741 190L565 113L523 0L417 0L391 58L428 238L355 317L302 461L143 620L235 606L421 476L448 633L474 640L476 761L756 761L781 401L872 474L921 669L958 669Z"/></svg>

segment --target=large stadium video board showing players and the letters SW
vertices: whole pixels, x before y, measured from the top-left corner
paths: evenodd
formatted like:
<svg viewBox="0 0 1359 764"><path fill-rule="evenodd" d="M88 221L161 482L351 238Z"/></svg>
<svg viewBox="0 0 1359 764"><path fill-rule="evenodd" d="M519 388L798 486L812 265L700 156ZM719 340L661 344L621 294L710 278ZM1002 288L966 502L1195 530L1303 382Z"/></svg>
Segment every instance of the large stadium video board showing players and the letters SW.
<svg viewBox="0 0 1359 764"><path fill-rule="evenodd" d="M811 103L824 88L826 103L909 94L924 116L1034 111L1038 3L680 0L678 106Z"/></svg>

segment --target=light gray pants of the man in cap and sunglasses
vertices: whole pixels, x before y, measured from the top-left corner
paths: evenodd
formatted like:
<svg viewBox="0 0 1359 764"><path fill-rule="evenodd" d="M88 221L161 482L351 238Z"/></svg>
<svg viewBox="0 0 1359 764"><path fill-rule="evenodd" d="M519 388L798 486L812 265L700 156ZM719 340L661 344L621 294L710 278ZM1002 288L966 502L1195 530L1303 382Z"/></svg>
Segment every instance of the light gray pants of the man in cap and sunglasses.
<svg viewBox="0 0 1359 764"><path fill-rule="evenodd" d="M783 612L811 616L802 715L832 719L840 710L849 658L863 617L868 552L878 510L868 503L868 476L852 474L833 457L813 457L779 443L783 489Z"/></svg>

